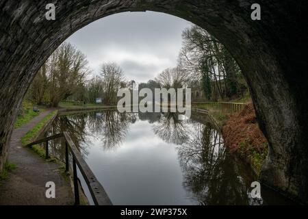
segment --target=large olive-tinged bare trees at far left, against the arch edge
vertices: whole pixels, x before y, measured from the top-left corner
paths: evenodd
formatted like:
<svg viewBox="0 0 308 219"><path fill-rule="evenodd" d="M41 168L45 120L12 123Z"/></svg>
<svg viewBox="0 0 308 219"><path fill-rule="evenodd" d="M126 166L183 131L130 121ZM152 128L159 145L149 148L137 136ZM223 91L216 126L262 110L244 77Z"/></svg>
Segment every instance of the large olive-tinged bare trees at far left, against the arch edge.
<svg viewBox="0 0 308 219"><path fill-rule="evenodd" d="M86 55L64 43L42 65L27 95L39 105L49 103L55 107L68 96L84 100L88 73Z"/></svg>

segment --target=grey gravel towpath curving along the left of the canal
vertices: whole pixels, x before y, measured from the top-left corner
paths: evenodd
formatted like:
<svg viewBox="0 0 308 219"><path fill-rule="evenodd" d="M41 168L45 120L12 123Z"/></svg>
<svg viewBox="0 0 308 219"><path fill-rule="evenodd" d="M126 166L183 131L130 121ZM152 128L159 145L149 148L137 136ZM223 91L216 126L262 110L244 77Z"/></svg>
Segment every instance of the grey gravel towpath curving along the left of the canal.
<svg viewBox="0 0 308 219"><path fill-rule="evenodd" d="M51 110L42 112L13 131L9 161L16 164L17 168L10 172L8 180L0 181L0 205L73 205L70 181L62 176L59 165L46 162L21 144L25 133L50 112ZM48 181L55 183L55 198L45 196Z"/></svg>

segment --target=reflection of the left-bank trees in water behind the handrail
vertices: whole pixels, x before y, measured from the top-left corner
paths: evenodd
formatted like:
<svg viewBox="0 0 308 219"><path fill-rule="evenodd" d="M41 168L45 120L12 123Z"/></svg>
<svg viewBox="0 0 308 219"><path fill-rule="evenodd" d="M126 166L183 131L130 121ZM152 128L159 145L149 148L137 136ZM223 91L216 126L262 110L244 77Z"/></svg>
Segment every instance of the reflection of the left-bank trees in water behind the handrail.
<svg viewBox="0 0 308 219"><path fill-rule="evenodd" d="M135 123L136 120L136 114L120 114L110 110L60 116L55 119L46 136L67 131L81 154L87 156L91 138L100 139L104 149L114 149L123 142L129 123ZM64 160L63 140L53 140L51 146L53 156Z"/></svg>

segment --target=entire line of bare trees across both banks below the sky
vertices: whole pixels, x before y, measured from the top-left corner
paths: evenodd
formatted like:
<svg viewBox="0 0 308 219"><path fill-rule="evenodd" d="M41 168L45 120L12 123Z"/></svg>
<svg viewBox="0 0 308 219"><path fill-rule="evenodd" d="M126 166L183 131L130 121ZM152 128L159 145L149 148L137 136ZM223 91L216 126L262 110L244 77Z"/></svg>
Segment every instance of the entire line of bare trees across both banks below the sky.
<svg viewBox="0 0 308 219"><path fill-rule="evenodd" d="M182 33L183 44L175 68L167 68L138 89L192 88L192 99L219 101L243 96L248 90L238 64L216 38L196 25ZM146 74L146 73L144 73ZM38 105L57 107L60 101L96 103L102 98L115 104L119 88L134 90L116 63L101 65L99 75L90 77L86 55L69 43L62 44L45 62L31 83L27 98Z"/></svg>

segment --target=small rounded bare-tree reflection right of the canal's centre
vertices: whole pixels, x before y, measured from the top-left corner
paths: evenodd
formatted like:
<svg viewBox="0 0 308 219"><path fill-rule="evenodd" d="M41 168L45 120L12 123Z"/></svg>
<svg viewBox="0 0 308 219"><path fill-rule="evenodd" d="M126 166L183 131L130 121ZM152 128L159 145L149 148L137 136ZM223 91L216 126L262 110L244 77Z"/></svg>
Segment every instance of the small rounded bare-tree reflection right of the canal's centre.
<svg viewBox="0 0 308 219"><path fill-rule="evenodd" d="M154 133L167 143L183 144L188 140L187 121L179 120L179 114L167 112L154 124Z"/></svg>

